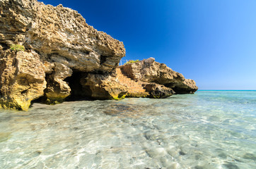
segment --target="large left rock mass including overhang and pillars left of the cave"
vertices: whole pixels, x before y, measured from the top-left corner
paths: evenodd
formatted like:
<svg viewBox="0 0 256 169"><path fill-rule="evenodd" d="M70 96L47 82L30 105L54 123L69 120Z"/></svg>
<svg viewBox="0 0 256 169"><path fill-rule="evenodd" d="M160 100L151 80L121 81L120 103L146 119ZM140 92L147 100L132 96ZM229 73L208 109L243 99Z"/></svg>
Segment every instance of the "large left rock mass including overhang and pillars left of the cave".
<svg viewBox="0 0 256 169"><path fill-rule="evenodd" d="M8 51L11 44L25 51ZM0 1L0 50L0 104L23 110L40 96L62 102L71 94L65 79L73 72L111 73L125 55L122 42L77 11L36 0Z"/></svg>

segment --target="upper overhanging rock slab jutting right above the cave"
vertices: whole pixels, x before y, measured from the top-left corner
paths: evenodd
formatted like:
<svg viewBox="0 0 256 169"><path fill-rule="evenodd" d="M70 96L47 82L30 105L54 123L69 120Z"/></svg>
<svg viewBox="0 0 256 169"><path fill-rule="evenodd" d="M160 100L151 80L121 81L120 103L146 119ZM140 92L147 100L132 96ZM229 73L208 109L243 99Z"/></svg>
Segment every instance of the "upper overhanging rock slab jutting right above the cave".
<svg viewBox="0 0 256 169"><path fill-rule="evenodd" d="M24 44L71 69L110 72L125 55L124 44L98 32L77 12L36 0L0 1L1 46Z"/></svg>

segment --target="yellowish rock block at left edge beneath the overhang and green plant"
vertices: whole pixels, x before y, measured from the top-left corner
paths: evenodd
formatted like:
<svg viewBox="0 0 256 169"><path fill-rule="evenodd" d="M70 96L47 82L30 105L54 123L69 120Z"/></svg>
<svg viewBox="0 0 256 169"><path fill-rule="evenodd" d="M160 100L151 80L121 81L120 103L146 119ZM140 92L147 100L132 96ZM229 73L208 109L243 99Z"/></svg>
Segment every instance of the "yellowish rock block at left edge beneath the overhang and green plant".
<svg viewBox="0 0 256 169"><path fill-rule="evenodd" d="M45 70L36 53L1 51L0 75L3 108L28 110L30 101L44 94Z"/></svg>

